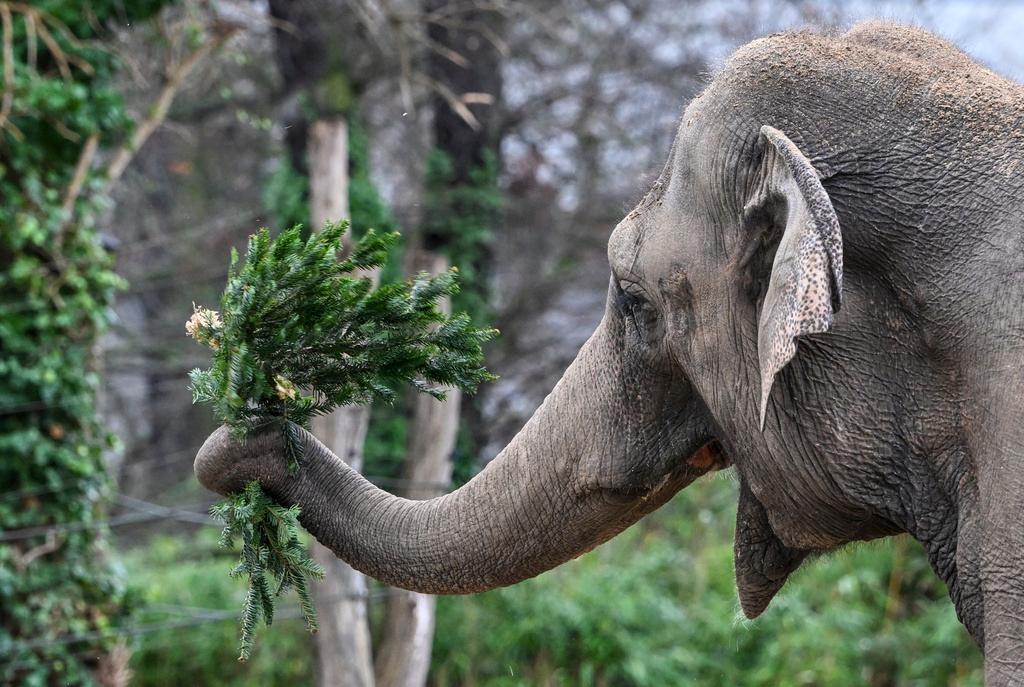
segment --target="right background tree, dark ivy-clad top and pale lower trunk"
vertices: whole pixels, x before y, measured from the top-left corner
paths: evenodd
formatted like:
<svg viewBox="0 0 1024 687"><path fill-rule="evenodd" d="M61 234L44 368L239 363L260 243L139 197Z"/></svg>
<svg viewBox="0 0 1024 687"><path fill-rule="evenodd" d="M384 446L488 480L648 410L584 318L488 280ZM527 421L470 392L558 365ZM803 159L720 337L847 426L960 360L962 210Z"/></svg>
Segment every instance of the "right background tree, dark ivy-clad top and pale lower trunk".
<svg viewBox="0 0 1024 687"><path fill-rule="evenodd" d="M501 204L497 169L501 143L505 16L452 0L423 3L424 78L432 87L434 148L427 162L424 211L408 271L438 272L456 265L464 280L457 300L486 318L490 235ZM409 498L439 496L452 479L462 395L444 401L411 398L409 441L401 470ZM435 485L433 487L429 485ZM426 683L434 635L433 597L395 591L388 597L375 672L378 687Z"/></svg>

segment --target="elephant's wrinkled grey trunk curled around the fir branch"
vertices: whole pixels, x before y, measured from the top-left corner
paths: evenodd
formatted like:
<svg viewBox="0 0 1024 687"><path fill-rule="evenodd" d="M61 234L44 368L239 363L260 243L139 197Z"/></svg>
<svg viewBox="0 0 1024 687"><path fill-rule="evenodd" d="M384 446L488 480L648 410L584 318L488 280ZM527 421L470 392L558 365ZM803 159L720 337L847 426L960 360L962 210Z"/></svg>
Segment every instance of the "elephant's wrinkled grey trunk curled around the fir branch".
<svg viewBox="0 0 1024 687"><path fill-rule="evenodd" d="M452 493L409 501L382 491L308 433L294 477L279 432L239 444L223 427L200 449L196 474L220 493L258 479L281 503L299 504L322 544L393 587L465 594L531 577L607 541L707 470L681 456L650 488L580 479L581 464L607 463L622 445L608 436L620 424L606 416L621 384L608 329L602 323L519 434Z"/></svg>

